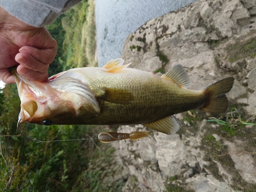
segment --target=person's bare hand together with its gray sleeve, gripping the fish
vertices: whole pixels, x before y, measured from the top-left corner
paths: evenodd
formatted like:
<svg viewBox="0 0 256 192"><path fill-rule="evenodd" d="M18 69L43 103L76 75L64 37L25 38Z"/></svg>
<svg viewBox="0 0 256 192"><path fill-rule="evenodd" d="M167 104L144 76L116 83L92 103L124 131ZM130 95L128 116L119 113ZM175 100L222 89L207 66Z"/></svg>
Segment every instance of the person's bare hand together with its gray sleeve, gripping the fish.
<svg viewBox="0 0 256 192"><path fill-rule="evenodd" d="M59 14L78 2L80 0L0 1L2 81L14 83L8 71L12 66L18 66L17 72L25 78L37 81L48 79L47 70L56 55L57 42L45 27L39 26L52 23Z"/></svg>

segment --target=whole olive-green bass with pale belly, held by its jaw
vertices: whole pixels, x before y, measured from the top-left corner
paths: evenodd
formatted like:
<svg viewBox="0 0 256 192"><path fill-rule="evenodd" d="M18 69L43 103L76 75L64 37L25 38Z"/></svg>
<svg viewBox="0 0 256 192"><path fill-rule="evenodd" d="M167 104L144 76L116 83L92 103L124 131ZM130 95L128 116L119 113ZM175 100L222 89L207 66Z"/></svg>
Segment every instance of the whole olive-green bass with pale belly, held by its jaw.
<svg viewBox="0 0 256 192"><path fill-rule="evenodd" d="M224 113L229 108L226 94L233 77L190 90L190 77L181 65L159 76L123 62L118 58L102 68L70 69L45 82L26 79L11 68L21 101L18 123L143 124L170 135L182 126L175 114L195 109Z"/></svg>

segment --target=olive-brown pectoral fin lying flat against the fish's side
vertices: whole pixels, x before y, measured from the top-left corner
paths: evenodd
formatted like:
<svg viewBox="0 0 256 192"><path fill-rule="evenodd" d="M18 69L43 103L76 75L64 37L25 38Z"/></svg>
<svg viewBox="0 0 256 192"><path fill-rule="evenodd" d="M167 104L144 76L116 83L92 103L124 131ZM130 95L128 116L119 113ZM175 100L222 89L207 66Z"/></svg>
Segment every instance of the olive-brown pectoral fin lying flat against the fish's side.
<svg viewBox="0 0 256 192"><path fill-rule="evenodd" d="M103 91L103 95L98 98L104 101L126 105L133 100L133 94L126 90L104 88Z"/></svg>

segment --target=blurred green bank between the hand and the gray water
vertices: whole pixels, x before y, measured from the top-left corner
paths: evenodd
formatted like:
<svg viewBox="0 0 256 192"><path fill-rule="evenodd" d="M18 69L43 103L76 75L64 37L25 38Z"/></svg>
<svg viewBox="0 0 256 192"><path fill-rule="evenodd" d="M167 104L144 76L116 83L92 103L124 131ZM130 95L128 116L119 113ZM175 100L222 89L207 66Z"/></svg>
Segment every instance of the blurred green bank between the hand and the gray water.
<svg viewBox="0 0 256 192"><path fill-rule="evenodd" d="M83 0L61 14L46 27L57 40L57 55L50 65L49 75L71 68L96 66L96 28L94 4Z"/></svg>

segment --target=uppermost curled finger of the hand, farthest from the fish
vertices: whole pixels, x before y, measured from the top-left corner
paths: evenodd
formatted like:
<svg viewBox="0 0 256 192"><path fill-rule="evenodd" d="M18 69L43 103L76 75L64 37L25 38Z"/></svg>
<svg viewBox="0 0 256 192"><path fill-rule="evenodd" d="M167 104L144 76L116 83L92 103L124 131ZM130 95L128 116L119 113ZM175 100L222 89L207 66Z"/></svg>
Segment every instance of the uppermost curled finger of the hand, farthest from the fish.
<svg viewBox="0 0 256 192"><path fill-rule="evenodd" d="M56 47L50 48L50 49L37 49L35 47L30 46L24 46L19 49L20 53L27 53L34 57L36 60L45 63L50 64L52 63L54 57L56 56Z"/></svg>

